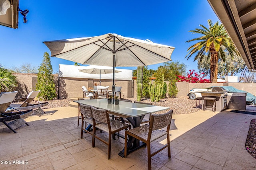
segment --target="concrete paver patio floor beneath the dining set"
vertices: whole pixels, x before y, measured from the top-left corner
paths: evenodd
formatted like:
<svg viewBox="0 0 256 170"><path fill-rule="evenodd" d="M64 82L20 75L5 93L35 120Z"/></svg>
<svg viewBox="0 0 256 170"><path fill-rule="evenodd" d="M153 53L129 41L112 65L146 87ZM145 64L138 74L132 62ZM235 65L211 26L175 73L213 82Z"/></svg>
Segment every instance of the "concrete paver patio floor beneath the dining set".
<svg viewBox="0 0 256 170"><path fill-rule="evenodd" d="M121 158L118 153L124 147L124 139L113 140L108 160L107 145L96 140L96 147L92 148L92 136L88 134L80 139L77 108L44 110L46 114L40 117L27 117L30 126L23 125L16 129L16 134L0 124L0 169L147 169L145 148ZM256 169L256 159L244 147L250 121L256 115L226 110L198 111L172 118L178 128L170 131L172 158L163 150L152 157L152 169ZM165 139L158 139L152 148L165 143Z"/></svg>

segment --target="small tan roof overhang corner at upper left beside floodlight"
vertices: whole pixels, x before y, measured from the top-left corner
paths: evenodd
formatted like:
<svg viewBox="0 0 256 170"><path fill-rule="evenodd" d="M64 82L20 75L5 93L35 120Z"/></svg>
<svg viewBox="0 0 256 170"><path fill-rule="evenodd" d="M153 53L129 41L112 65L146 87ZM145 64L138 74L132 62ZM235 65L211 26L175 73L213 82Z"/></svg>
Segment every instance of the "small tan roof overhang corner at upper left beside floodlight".
<svg viewBox="0 0 256 170"><path fill-rule="evenodd" d="M6 14L0 15L0 25L4 25L6 27L11 27L16 29L18 28L19 0L9 0L9 1L11 4L10 8L7 9Z"/></svg>

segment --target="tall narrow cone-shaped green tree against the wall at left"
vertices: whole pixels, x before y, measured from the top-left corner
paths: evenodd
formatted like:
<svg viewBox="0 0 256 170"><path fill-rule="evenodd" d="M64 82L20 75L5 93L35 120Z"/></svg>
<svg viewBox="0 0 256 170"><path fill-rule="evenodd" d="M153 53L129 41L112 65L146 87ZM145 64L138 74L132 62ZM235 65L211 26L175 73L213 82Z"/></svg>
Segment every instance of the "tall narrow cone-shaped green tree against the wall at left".
<svg viewBox="0 0 256 170"><path fill-rule="evenodd" d="M44 53L44 59L38 69L36 90L41 90L38 94L39 100L53 100L56 98L52 64L47 52Z"/></svg>

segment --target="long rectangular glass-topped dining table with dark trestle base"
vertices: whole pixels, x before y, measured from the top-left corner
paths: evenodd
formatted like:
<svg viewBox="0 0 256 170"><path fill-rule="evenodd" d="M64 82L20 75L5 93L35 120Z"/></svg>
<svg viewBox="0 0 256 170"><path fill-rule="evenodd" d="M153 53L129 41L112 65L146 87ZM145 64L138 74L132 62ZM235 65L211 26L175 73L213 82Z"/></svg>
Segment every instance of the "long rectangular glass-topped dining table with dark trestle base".
<svg viewBox="0 0 256 170"><path fill-rule="evenodd" d="M113 115L124 117L131 123L132 128L140 126L140 123L142 122L146 114L169 109L169 107L153 106L148 104L138 104L124 101L120 101L118 105L108 104L107 99L77 100L74 102L93 106L99 109L106 109ZM145 145L138 139L132 137L129 138L127 144L127 154ZM119 156L124 157L124 149L119 152Z"/></svg>

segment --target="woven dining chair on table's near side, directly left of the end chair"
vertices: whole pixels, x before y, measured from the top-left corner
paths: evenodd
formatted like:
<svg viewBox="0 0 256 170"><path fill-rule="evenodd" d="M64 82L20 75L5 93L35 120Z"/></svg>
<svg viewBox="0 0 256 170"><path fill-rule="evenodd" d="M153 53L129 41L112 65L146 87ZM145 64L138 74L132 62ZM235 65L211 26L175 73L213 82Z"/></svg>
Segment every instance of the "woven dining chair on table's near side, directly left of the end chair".
<svg viewBox="0 0 256 170"><path fill-rule="evenodd" d="M104 109L96 109L95 107L91 106L92 110L92 120L93 120L93 134L92 134L92 147L95 147L95 138L102 141L106 145L108 145L108 159L110 159L110 152L111 152L111 136L114 135L116 132L119 132L124 129L131 129L131 125L127 125L120 121L110 120L108 115L108 110ZM98 123L97 122L101 122ZM96 136L96 128L107 132L108 135L108 142L101 139L100 137Z"/></svg>

